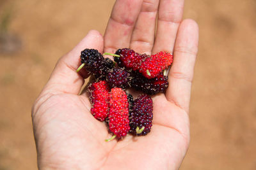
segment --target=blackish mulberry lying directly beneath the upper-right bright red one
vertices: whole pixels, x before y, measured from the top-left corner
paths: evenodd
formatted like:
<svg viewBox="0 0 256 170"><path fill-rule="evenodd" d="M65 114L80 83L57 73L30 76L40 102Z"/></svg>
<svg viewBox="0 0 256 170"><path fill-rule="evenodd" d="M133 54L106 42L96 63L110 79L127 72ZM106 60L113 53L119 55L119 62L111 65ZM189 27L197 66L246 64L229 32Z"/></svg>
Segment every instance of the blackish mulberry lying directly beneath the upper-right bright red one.
<svg viewBox="0 0 256 170"><path fill-rule="evenodd" d="M147 79L141 73L133 72L131 86L136 90L141 90L145 94L157 94L159 92L164 92L169 83L168 76L164 76L163 73L156 76L156 78Z"/></svg>

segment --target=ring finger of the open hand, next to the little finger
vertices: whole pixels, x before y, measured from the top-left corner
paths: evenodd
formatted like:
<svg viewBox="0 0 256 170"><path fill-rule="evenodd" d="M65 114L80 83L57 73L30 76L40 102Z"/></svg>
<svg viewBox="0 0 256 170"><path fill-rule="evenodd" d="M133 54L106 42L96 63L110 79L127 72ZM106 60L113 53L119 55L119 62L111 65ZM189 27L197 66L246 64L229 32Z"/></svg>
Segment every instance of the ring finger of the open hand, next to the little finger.
<svg viewBox="0 0 256 170"><path fill-rule="evenodd" d="M184 0L161 0L157 19L153 53L172 52L176 34L182 21Z"/></svg>

